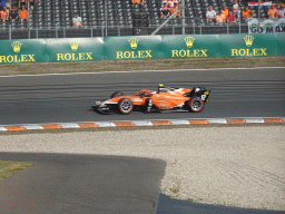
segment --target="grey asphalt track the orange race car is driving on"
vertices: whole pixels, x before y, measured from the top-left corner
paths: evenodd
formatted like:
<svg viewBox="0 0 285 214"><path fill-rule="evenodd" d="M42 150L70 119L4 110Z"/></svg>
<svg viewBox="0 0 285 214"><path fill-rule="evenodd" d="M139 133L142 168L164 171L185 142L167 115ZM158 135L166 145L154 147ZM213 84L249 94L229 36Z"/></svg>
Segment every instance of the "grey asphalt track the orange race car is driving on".
<svg viewBox="0 0 285 214"><path fill-rule="evenodd" d="M207 87L209 103L199 114L100 115L90 108L114 91L132 95L158 84ZM0 125L285 116L285 68L14 76L1 77L0 87Z"/></svg>

